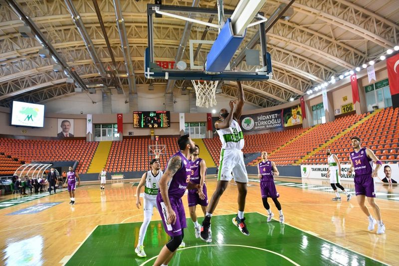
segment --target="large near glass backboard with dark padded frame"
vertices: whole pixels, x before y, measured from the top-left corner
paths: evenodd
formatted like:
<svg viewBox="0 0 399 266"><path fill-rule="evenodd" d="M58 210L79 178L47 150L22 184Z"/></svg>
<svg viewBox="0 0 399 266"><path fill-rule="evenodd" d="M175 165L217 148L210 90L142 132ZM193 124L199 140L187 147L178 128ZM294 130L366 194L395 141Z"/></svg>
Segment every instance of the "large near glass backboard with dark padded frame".
<svg viewBox="0 0 399 266"><path fill-rule="evenodd" d="M234 10L224 9L224 19ZM174 15L174 16L171 16ZM262 20L262 13L253 22ZM148 4L146 78L178 80L260 80L271 77L270 54L266 52L264 21L246 29L246 34L222 72L205 72L206 57L219 34L217 8ZM157 17L162 15L162 17ZM180 19L186 17L194 22ZM196 22L200 20L203 25ZM186 26L186 24L191 26ZM258 36L253 49L248 43ZM253 45L252 45L253 46ZM251 56L245 56L249 54ZM258 51L258 52L256 52ZM224 67L224 66L223 66Z"/></svg>

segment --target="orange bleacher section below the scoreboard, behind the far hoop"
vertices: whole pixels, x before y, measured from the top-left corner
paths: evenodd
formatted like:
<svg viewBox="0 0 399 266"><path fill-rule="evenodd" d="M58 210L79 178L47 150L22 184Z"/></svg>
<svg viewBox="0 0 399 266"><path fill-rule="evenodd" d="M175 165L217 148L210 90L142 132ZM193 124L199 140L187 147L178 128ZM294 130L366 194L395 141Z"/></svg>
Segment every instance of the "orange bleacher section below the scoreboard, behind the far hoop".
<svg viewBox="0 0 399 266"><path fill-rule="evenodd" d="M165 145L166 150L160 155L161 169L164 169L169 157L178 150L177 137L161 137L158 145ZM147 171L150 168L151 159L149 145L155 145L155 141L148 137L124 139L113 141L108 155L105 170L108 172Z"/></svg>

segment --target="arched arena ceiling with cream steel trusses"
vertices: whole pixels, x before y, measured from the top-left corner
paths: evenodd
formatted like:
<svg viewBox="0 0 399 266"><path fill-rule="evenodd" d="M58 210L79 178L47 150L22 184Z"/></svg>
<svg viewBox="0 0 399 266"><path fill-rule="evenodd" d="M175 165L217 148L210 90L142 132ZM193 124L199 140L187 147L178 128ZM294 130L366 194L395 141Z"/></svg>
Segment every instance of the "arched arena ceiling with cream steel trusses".
<svg viewBox="0 0 399 266"><path fill-rule="evenodd" d="M12 100L43 103L73 95L77 93L73 84L76 80L86 88L99 83L119 88L117 91L125 94L126 101L134 99L129 95L137 93L136 84L150 84L144 78L144 49L147 47L147 3L154 2L97 2L103 22L99 21L92 0L0 0L1 106L9 106ZM193 5L190 0L162 2ZM198 6L214 8L215 2L199 0ZM224 8L234 9L237 2L224 0ZM66 82L68 76L63 71L53 71L58 61L39 56L43 46L34 34L21 35L19 27L26 24L19 19L15 8L11 8L15 3L57 51L60 56L57 59L74 72L73 83ZM269 17L281 3L289 1L267 0L261 11ZM267 32L273 79L243 82L247 101L260 107L296 99L332 76L379 58L399 43L398 0L296 0L291 7L293 15L289 19L278 19ZM79 21L72 19L71 9L78 14L80 19L76 20ZM124 25L118 25L117 16L123 17ZM177 27L182 29L184 24L185 21L166 18L159 34L167 35ZM249 40L248 37L246 41ZM121 48L122 42L126 42L124 47L129 47L131 60ZM179 40L168 41L168 45L177 49ZM245 61L239 67L245 69ZM129 71L134 75L126 75ZM165 80L156 82L165 83L167 92ZM183 85L176 83L177 87ZM225 95L236 95L233 82L225 82L221 89ZM83 90L83 93L88 92Z"/></svg>

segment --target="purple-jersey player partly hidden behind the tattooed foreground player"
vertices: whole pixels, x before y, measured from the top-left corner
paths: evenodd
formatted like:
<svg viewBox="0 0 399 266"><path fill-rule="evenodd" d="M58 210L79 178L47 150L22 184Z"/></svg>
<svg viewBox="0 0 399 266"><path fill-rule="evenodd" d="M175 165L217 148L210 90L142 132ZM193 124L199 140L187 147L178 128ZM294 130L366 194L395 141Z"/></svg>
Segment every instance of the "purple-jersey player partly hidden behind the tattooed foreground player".
<svg viewBox="0 0 399 266"><path fill-rule="evenodd" d="M205 175L206 175L206 164L205 161L200 157L200 147L196 145L196 150L191 155L191 182L195 184L200 184L202 186L202 192L199 192L197 189L189 190L187 194L187 200L189 202L189 211L191 220L194 223L194 229L196 238L200 237L200 229L201 226L197 221L196 208L199 204L201 206L203 216L206 214L206 207L208 206L208 197L206 195L206 186L205 186ZM209 237L210 238L210 237ZM210 242L210 241L209 241Z"/></svg>

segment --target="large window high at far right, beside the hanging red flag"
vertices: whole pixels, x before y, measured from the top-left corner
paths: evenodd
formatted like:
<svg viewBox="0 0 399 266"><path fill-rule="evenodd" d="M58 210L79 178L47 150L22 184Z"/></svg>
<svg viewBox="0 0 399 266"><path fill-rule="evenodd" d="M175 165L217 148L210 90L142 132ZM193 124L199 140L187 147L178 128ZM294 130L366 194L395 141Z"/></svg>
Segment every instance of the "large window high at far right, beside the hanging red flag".
<svg viewBox="0 0 399 266"><path fill-rule="evenodd" d="M374 108L386 108L392 106L392 97L388 78L374 84L365 86L367 111Z"/></svg>

